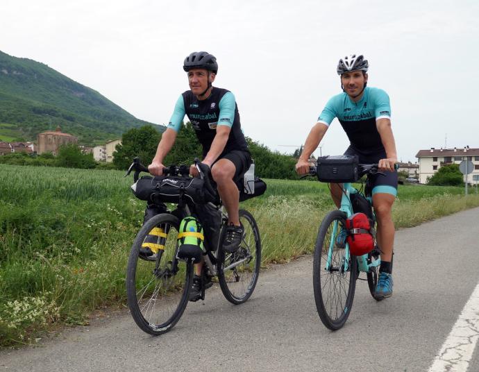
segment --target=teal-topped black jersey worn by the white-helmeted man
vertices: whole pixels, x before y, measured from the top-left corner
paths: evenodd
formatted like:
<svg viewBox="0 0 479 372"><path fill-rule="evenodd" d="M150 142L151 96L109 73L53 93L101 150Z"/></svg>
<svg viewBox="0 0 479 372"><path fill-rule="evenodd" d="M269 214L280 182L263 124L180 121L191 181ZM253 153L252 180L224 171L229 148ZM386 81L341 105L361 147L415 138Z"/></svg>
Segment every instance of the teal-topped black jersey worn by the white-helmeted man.
<svg viewBox="0 0 479 372"><path fill-rule="evenodd" d="M364 155L384 151L376 128L376 120L391 118L389 96L384 90L366 87L358 102L351 101L344 92L333 96L319 115L318 122L329 126L335 117L341 123L353 149Z"/></svg>

